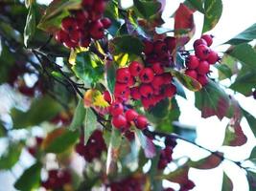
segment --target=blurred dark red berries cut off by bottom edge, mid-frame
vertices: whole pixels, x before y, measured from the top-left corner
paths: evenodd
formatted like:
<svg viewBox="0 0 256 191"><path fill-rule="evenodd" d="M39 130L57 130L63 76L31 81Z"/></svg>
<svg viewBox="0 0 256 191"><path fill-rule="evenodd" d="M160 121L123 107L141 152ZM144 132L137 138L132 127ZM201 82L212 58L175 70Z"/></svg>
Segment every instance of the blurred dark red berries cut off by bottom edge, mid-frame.
<svg viewBox="0 0 256 191"><path fill-rule="evenodd" d="M111 191L142 191L144 179L141 177L128 177L127 179L110 183Z"/></svg>

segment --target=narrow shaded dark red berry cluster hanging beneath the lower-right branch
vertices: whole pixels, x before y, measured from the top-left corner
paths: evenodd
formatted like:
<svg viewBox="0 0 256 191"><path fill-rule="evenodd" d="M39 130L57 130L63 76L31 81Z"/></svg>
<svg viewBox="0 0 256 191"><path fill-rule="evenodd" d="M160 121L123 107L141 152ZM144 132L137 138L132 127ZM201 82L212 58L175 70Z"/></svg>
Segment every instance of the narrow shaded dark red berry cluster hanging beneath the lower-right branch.
<svg viewBox="0 0 256 191"><path fill-rule="evenodd" d="M165 139L165 145L166 147L160 152L160 158L158 161L159 170L164 170L168 163L170 163L173 160L172 155L176 145L176 141L173 138L167 137Z"/></svg>

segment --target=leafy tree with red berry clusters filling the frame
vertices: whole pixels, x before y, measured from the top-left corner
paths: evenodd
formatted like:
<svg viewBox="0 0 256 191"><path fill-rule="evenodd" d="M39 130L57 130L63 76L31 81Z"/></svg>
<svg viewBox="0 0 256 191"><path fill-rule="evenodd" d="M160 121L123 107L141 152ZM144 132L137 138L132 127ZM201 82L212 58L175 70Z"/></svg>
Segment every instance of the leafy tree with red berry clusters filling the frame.
<svg viewBox="0 0 256 191"><path fill-rule="evenodd" d="M221 0L180 4L173 29L161 27L163 9L164 3L156 0L134 0L128 9L117 0L55 0L49 6L30 0L0 2L0 83L8 84L12 98L29 100L25 108L12 106L12 121L0 121L0 135L9 143L0 169L11 170L22 151L35 158L16 180L16 189L174 190L162 186L162 180L170 180L185 191L195 187L190 168L212 169L223 160L243 169L249 189L256 189L255 148L246 161L235 161L198 145L190 138L195 129L178 121L182 111L175 99L190 98L184 89L195 92L201 117L230 119L223 145L244 145L241 121L245 118L255 134L256 119L226 90L256 97L256 52L250 43L256 25L227 41L226 52L217 53L210 48L213 37L205 32L221 18ZM204 15L202 35L194 50L187 51L195 11ZM212 70L219 71L218 78L211 76ZM220 86L231 77L235 80L229 87ZM34 137L35 126L45 136ZM25 138L13 138L24 130ZM209 156L177 162L172 157L176 140ZM57 157L58 168L47 167L49 153ZM86 161L82 176L71 166L75 153ZM166 173L170 163L175 169ZM232 188L223 172L222 190Z"/></svg>

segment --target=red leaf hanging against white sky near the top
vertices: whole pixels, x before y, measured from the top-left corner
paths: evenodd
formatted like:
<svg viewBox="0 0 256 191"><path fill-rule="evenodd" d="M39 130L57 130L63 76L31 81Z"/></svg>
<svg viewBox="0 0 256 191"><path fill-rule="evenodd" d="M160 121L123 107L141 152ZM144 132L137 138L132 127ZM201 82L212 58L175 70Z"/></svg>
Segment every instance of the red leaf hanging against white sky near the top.
<svg viewBox="0 0 256 191"><path fill-rule="evenodd" d="M193 11L184 4L180 4L175 11L175 37L177 45L185 45L195 33Z"/></svg>

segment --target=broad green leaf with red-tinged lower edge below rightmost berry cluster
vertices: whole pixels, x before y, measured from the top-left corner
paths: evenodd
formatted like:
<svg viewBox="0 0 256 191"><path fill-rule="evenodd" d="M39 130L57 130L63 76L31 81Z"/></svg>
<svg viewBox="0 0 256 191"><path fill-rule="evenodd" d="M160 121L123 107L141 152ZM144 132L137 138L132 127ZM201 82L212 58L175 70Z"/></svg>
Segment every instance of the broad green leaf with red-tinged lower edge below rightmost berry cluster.
<svg viewBox="0 0 256 191"><path fill-rule="evenodd" d="M219 85L212 80L196 93L196 107L201 110L201 117L225 117L229 111L230 99Z"/></svg>

